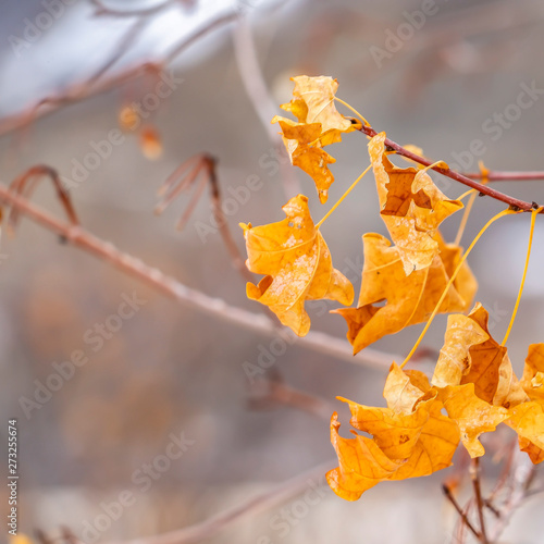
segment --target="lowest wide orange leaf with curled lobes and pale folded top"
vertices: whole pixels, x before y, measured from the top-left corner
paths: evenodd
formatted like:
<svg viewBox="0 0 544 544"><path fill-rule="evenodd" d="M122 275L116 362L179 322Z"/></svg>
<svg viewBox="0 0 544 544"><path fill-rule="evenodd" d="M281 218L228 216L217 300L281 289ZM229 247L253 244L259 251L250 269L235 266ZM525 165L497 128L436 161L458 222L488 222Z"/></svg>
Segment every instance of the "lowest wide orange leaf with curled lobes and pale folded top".
<svg viewBox="0 0 544 544"><path fill-rule="evenodd" d="M407 382L418 397L411 399L413 403L406 403L406 397L396 398L404 396ZM405 374L394 363L384 391L387 408L347 400L351 425L373 438L358 434L355 438L339 436L337 415L333 415L331 441L339 466L326 478L338 496L356 500L381 481L429 475L452 463L459 432L456 423L441 413L443 404L436 392L424 391L429 385L425 382L419 373Z"/></svg>

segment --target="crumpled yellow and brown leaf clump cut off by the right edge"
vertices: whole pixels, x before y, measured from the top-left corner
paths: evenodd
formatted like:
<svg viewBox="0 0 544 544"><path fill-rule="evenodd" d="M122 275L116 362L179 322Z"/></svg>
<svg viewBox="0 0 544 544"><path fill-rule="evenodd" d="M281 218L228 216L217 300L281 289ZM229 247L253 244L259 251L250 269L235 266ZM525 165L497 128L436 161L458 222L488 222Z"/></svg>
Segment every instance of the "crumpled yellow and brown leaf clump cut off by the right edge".
<svg viewBox="0 0 544 544"><path fill-rule="evenodd" d="M530 400L529 395L542 366L542 348L531 346L520 383L506 347L490 335L487 320L480 304L469 316L448 318L432 384L438 388L448 416L458 423L471 457L485 453L480 435L506 422L518 433L520 446L531 459L542 460L537 449L544 447L543 404Z"/></svg>

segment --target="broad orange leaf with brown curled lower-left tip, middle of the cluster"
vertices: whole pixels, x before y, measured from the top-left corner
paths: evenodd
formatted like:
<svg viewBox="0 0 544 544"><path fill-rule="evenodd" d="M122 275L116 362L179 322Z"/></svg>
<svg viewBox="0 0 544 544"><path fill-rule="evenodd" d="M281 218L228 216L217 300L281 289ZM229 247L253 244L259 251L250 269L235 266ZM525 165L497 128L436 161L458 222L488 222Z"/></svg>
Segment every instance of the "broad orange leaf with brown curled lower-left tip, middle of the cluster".
<svg viewBox="0 0 544 544"><path fill-rule="evenodd" d="M380 234L362 237L364 265L357 308L334 310L348 325L347 338L354 354L379 338L426 321L457 267L461 249L445 244L440 234L432 238L440 250L431 264L405 274L401 251ZM466 311L475 294L477 282L466 263L449 287L440 312ZM385 305L381 305L385 300Z"/></svg>

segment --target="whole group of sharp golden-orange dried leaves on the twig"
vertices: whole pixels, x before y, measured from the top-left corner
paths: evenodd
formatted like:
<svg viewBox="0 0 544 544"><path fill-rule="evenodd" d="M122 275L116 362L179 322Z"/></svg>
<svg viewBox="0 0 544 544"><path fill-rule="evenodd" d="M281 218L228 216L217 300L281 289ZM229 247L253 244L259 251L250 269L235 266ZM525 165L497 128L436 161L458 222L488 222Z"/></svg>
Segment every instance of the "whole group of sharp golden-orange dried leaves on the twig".
<svg viewBox="0 0 544 544"><path fill-rule="evenodd" d="M297 121L275 116L273 122L280 123L293 164L313 178L323 203L334 181L329 169L334 159L323 147L341 141L342 133L357 129L360 122L336 110L335 79L298 76L294 81L294 98L282 108ZM370 436L351 431L354 438L342 437L333 415L331 440L339 467L327 473L327 480L336 494L349 500L378 482L428 475L448 467L459 442L471 457L482 456L480 435L499 423L518 433L520 448L534 463L544 459L544 344L530 346L519 381L506 347L489 333L486 310L477 304L468 316L463 313L475 295L477 281L461 261L462 249L446 244L438 232L462 203L447 199L428 169L394 165L384 140L384 133L371 138L369 154L391 242L374 233L362 236L364 264L357 307L333 312L346 320L354 354L426 321L438 304L438 312L461 313L448 319L431 381L393 362L384 388L387 408L346 400L351 426ZM298 195L283 210L286 219L277 223L242 225L247 267L264 274L258 285L248 283L247 295L304 336L310 329L306 300L329 298L349 306L354 288L333 268L326 243L310 217L308 198Z"/></svg>

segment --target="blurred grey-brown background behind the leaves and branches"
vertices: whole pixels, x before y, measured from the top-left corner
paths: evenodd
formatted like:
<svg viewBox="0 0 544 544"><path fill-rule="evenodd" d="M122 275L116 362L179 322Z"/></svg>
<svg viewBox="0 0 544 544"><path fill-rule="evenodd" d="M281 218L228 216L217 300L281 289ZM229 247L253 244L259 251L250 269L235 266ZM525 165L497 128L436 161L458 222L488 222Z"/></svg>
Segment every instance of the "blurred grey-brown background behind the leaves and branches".
<svg viewBox="0 0 544 544"><path fill-rule="evenodd" d="M0 178L9 184L36 164L55 169L96 236L195 289L263 312L246 299L245 280L213 226L208 188L181 232L175 223L189 194L153 213L168 176L197 153L217 159L221 191L234 199L227 223L243 255L238 223L280 221L297 186L319 220L368 165L368 154L358 133L330 148L335 183L321 207L312 181L285 165L277 125L268 123L290 99L289 77L298 74L336 77L338 97L374 128L420 146L433 160L472 172L478 160L490 170L544 170L542 92L533 92L527 109L512 108L523 89L544 88L543 30L537 0L4 0ZM136 128L127 110L134 102L143 104ZM477 139L484 148L478 157L470 151ZM465 191L435 178L448 197ZM494 187L542 203L542 183ZM249 185L249 197L240 197ZM49 182L32 200L62 217ZM500 209L478 199L462 245ZM518 292L529 219L495 224L469 259L480 281L477 300L490 310L497 337ZM459 220L444 224L447 240ZM372 176L322 231L357 296L361 235L386 234ZM518 371L528 345L544 342L543 245L537 221L508 345ZM5 420L18 421L20 530L30 535L39 529L54 537L66 527L85 542L110 542L197 523L327 460L334 466L330 413L337 410L343 431L348 428L348 410L336 396L384 404L387 366L360 357L353 363L298 344L273 356L252 381L245 363L259 367L272 338L188 309L24 217L14 236L2 234L0 252L0 404ZM134 311L120 319L126 299ZM309 306L313 330L344 338L344 320L322 310ZM417 361L424 370L432 368L445 322L437 318L425 337L431 355ZM372 347L406 354L420 330ZM41 393L28 408L25 399L36 400L40 384L54 383L51 374L69 368L63 363L78 351L87 362L72 366L58 391ZM274 395L270 381L290 396ZM0 434L5 443L7 423ZM169 457L182 436L183 455ZM152 474L146 474L149 466ZM486 471L494 477L492 465ZM298 497L201 542L452 542L455 515L440 489L449 473L384 483L354 504L312 474ZM121 504L124 492L134 500L118 516L112 504ZM0 492L2 508L7 493ZM542 506L539 496L528 500L505 542L541 542L535 512Z"/></svg>

